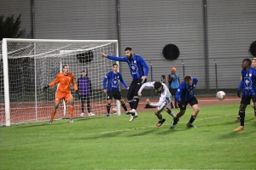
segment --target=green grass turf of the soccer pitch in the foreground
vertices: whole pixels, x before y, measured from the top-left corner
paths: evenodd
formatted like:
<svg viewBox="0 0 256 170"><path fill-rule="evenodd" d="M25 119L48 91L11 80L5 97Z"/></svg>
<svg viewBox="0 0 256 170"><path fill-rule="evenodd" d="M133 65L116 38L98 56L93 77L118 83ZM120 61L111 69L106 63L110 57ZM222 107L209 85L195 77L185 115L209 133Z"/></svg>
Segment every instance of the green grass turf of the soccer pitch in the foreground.
<svg viewBox="0 0 256 170"><path fill-rule="evenodd" d="M176 114L178 110L173 110ZM256 117L247 107L246 130L233 132L237 104L202 106L196 128L156 127L154 111L0 127L0 169L254 169Z"/></svg>

